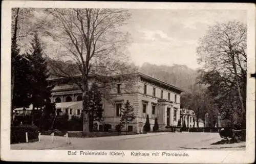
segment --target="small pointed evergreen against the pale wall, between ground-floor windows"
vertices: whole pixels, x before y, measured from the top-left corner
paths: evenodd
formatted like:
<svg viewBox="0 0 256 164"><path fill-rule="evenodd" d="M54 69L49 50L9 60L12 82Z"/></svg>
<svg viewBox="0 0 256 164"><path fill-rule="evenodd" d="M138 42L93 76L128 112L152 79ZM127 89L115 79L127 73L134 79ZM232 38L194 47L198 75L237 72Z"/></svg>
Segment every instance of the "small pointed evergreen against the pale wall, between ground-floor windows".
<svg viewBox="0 0 256 164"><path fill-rule="evenodd" d="M122 108L121 110L121 120L120 120L120 128L124 127L124 124L126 125L126 132L127 132L127 128L128 128L128 123L131 123L135 118L135 113L134 113L134 108L133 106L130 104L130 102L127 100L124 108Z"/></svg>

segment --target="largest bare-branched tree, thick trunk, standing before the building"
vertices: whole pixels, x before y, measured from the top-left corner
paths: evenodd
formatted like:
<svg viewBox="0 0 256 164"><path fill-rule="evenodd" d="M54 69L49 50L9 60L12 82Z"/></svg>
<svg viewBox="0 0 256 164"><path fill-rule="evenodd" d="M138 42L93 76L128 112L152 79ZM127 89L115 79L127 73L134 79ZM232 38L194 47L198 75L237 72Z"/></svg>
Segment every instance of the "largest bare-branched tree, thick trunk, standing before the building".
<svg viewBox="0 0 256 164"><path fill-rule="evenodd" d="M49 19L41 21L42 30L59 45L59 56L55 59L70 60L81 78L74 78L73 73L63 70L56 62L50 66L54 75L73 79L82 91L83 132L88 135L89 76L127 73L130 68L124 62L127 61L124 49L127 35L123 35L119 27L130 14L117 9L46 9L45 13Z"/></svg>

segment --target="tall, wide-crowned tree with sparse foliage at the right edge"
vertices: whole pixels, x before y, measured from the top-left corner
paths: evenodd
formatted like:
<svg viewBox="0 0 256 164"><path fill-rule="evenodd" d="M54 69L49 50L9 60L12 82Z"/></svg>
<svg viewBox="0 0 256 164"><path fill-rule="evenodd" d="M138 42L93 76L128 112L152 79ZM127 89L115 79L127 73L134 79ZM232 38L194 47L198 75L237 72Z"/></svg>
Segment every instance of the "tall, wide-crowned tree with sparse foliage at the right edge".
<svg viewBox="0 0 256 164"><path fill-rule="evenodd" d="M243 124L246 113L246 45L246 25L229 21L209 27L197 50L198 61L204 64L201 82L209 85L219 109L226 108L222 113L229 109L240 113L238 115L242 116ZM213 88L216 90L212 91ZM227 100L232 107L223 100Z"/></svg>

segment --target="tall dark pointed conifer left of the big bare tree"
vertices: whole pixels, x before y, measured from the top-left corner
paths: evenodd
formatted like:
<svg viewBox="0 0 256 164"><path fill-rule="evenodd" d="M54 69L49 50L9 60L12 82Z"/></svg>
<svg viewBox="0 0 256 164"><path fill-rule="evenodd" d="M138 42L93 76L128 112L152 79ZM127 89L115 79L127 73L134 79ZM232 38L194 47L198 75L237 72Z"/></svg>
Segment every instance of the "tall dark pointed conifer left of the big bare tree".
<svg viewBox="0 0 256 164"><path fill-rule="evenodd" d="M48 84L49 71L47 69L46 59L42 54L42 47L37 33L31 42L32 51L29 60L32 68L32 78L30 87L32 88L32 116L35 107L41 108L45 105L46 100L51 97L51 88ZM33 121L33 120L32 120Z"/></svg>

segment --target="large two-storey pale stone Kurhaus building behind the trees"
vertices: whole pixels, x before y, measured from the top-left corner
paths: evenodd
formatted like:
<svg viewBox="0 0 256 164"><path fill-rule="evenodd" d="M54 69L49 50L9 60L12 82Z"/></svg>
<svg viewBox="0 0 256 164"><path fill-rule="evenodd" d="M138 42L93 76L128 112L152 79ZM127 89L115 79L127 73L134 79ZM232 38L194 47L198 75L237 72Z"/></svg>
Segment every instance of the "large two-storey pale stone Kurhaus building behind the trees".
<svg viewBox="0 0 256 164"><path fill-rule="evenodd" d="M91 81L94 79L91 78ZM72 115L80 116L82 92L79 87L63 78L49 79L49 82L54 85L51 101L56 102L57 111L68 113L69 118ZM127 125L129 131L142 132L147 114L151 130L155 118L158 119L159 129L177 126L182 89L140 72L133 74L130 80L113 78L111 86L109 94L102 99L104 120L98 123L99 127L104 124L109 129L116 130L121 119L121 109L127 100L133 105L136 114L136 119Z"/></svg>

